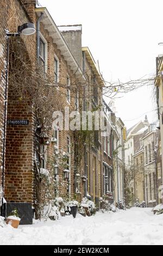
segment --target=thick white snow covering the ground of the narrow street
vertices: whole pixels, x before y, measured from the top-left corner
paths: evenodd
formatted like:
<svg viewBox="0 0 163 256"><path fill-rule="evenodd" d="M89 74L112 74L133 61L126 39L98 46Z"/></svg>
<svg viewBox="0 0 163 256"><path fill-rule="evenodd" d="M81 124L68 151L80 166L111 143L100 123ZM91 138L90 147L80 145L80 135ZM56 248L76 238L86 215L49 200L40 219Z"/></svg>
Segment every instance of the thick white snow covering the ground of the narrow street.
<svg viewBox="0 0 163 256"><path fill-rule="evenodd" d="M72 215L60 221L35 221L18 229L0 227L0 245L163 245L163 214L150 208Z"/></svg>

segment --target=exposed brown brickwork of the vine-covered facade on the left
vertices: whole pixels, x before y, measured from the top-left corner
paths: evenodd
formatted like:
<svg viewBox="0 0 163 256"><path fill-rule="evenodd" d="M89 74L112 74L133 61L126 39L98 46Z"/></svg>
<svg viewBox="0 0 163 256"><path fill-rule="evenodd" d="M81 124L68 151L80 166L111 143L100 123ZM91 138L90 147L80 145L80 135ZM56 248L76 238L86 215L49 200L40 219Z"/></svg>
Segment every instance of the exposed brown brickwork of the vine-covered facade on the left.
<svg viewBox="0 0 163 256"><path fill-rule="evenodd" d="M83 50L82 53L82 44L80 45L80 35L78 36L79 47L77 48L78 61L74 58L70 52L66 42L63 40L57 26L49 18L48 11L46 9L41 9L43 11L43 19L40 21L40 38L43 41L43 44L46 47L46 61L45 69L48 76L51 76L52 81L55 79L54 74L54 58L57 58L58 62L58 76L59 76L59 89L57 90L56 95L54 95L54 101L58 102L56 110L60 110L64 113L65 107L70 108L70 112L76 108L76 93L71 92L70 102L67 102L67 76L70 78L70 84L73 84L77 79L81 77L87 81L89 84L89 89L87 92L87 110L91 110L93 107L93 101L97 105L101 105L102 100L102 87L99 87L99 80L101 83L102 77L99 74L95 63L91 60L91 53L89 50ZM5 28L8 28L10 32L17 32L17 26L22 25L23 23L33 22L36 26L36 22L41 14L41 11L37 8L35 9L35 1L18 1L10 0L8 3L3 1L1 3L1 17L2 26L0 28L0 43L1 43L1 56L0 56L0 71L1 71L1 96L0 96L0 106L1 109L4 109L4 89L5 89L5 55L7 48L7 40L5 39ZM80 34L80 33L79 33ZM38 34L39 35L39 34ZM57 37L56 37L57 35ZM55 36L55 37L54 37ZM20 45L23 48L24 58L27 58L30 69L35 69L37 59L37 33L29 36L21 35L20 37L12 40L16 41L16 44ZM62 45L61 45L62 44ZM82 54L85 54L85 63L82 60ZM67 57L68 56L68 57ZM14 59L14 52L10 52L10 60ZM78 62L82 62L78 64ZM82 66L85 65L85 68L82 72ZM22 68L23 71L23 68ZM11 72L11 63L9 63L9 74ZM85 75L84 76L84 72ZM23 74L23 73L22 73ZM98 84L98 89L96 90L96 84L92 83L92 77L94 76L96 83ZM93 86L93 87L92 87ZM5 147L5 199L7 203L17 205L17 208L22 207L20 203L28 204L31 208L34 205L36 199L36 189L35 189L35 114L32 112L32 108L27 107L27 103L24 102L19 95L14 96L12 94L12 83L9 80L8 88L8 107L7 107L7 119L8 120L28 120L29 124L27 125L7 125L6 132L6 147ZM93 96L93 101L92 100ZM31 103L29 103L30 105ZM3 151L3 124L4 116L3 111L0 114L0 162L2 165L2 151ZM49 131L49 138L53 136L54 131ZM74 144L74 132L73 131L59 131L59 150L67 152L67 137L70 139L71 144ZM74 172L74 145L71 148L71 170L69 175L70 190L67 192L67 185L63 186L63 183L68 184L68 181L64 178L64 172L62 168L59 167L59 193L58 196L70 198L76 198L81 200L86 194L90 194L91 199L97 203L98 199L102 196L103 191L103 154L102 154L102 137L100 131L95 131L94 135L94 145L91 148L89 145L86 147L87 151L87 174L85 173L85 156L83 157L82 162L78 173L80 174L79 178L79 191L76 194L76 176ZM54 152L54 145L50 143L47 146L46 161L48 168L48 160L51 159ZM46 168L45 167L45 168ZM2 168L0 168L0 174L2 177ZM86 182L83 178L84 175L87 175L88 186L86 189ZM0 184L2 183L2 178L0 178ZM69 193L69 195L67 194ZM26 207L21 208L22 215L26 215ZM26 222L26 221L25 221ZM24 222L24 223L25 223ZM28 220L27 220L27 223Z"/></svg>

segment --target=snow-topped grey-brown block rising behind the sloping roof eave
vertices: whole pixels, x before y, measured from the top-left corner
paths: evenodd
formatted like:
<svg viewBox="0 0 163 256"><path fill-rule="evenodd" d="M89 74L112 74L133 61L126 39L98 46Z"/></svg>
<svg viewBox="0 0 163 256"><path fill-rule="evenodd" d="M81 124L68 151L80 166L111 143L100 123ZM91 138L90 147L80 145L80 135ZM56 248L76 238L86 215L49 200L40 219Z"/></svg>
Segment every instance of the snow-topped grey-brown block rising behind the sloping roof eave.
<svg viewBox="0 0 163 256"><path fill-rule="evenodd" d="M82 25L58 26L58 29L82 69Z"/></svg>

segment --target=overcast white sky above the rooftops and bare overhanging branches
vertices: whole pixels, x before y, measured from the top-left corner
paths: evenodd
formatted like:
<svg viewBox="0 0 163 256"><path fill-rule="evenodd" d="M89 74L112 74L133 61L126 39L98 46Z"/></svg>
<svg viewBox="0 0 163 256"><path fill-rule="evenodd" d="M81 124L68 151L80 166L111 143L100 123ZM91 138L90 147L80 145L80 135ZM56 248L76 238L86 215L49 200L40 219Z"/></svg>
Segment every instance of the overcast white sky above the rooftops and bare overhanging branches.
<svg viewBox="0 0 163 256"><path fill-rule="evenodd" d="M163 52L161 0L39 0L57 25L82 24L83 46L88 46L105 81L126 82L155 74L155 57ZM156 119L150 88L116 100L117 115L127 129Z"/></svg>

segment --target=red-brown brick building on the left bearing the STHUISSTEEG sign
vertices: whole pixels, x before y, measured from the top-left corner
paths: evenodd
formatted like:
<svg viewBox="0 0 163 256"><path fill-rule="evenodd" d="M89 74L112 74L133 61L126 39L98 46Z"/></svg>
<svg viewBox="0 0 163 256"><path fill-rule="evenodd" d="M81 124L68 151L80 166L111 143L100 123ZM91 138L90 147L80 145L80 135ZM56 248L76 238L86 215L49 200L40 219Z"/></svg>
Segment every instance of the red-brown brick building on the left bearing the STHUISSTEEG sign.
<svg viewBox="0 0 163 256"><path fill-rule="evenodd" d="M40 138L39 142L37 140L40 123L37 125L33 101L27 100L30 94L29 88L32 88L30 83L32 83L33 74L39 65L45 76L49 77L52 86L55 87L54 96L50 95L55 102L54 111L59 110L64 114L65 107L69 107L70 112L78 110L79 101L82 102L80 111L91 111L94 107L102 104L104 81L89 48L82 48L81 26L79 25L79 29L76 28L71 32L77 35L76 47L72 47L66 37L67 33L62 32L61 34L61 28L55 25L48 10L37 6L36 1L9 0L8 2L3 1L0 7L2 25L0 28L0 104L3 109L0 113L0 161L2 166L0 168L0 185L3 185L4 198L7 201L7 214L13 208L17 208L21 215L21 223L32 223L32 208L37 204L37 164L40 164L41 172L45 173L49 169L56 150L63 154L68 153L67 168L63 169L58 166L57 173L54 175L54 179L58 182L56 196L76 197L78 200L87 196L98 206L98 199L103 194L104 160L101 131L94 132L94 142L91 147L85 145L83 160L76 170L75 132L58 128L56 131L50 130L48 144L41 144ZM10 36L9 79L7 80L5 74L7 65L5 28L11 33L16 33L18 26L29 22L35 25L36 32L34 34ZM70 33L67 35L70 36ZM20 58L18 53L20 53ZM20 62L21 58L23 58L22 63ZM15 71L13 71L17 66L18 74L21 75L15 75ZM28 81L26 81L27 72ZM23 84L26 84L26 87L23 87ZM84 100L79 96L81 88L84 88L83 84L87 84L87 95ZM8 92L7 117L4 120L6 85ZM19 87L22 95L16 93L19 92L17 91ZM33 88L32 92L34 92ZM7 124L5 133L4 124ZM4 147L3 134L5 135ZM55 141L55 145L53 141ZM37 147L39 147L40 155L43 155L41 160L37 154Z"/></svg>

